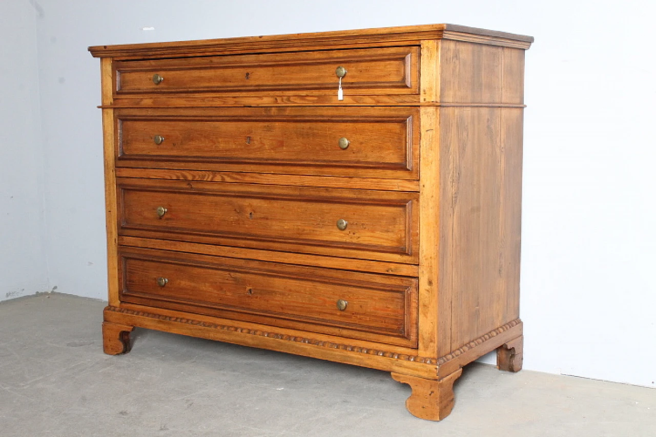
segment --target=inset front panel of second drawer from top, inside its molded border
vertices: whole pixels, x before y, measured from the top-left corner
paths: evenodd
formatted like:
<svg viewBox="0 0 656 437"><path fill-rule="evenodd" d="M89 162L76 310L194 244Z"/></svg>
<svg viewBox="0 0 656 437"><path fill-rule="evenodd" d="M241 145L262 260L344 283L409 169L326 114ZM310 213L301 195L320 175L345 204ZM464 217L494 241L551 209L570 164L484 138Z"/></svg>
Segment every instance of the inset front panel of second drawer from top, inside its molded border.
<svg viewBox="0 0 656 437"><path fill-rule="evenodd" d="M119 129L119 165L121 158L268 163L351 167L354 175L359 167L410 171L412 165L409 117L358 121L123 119Z"/></svg>

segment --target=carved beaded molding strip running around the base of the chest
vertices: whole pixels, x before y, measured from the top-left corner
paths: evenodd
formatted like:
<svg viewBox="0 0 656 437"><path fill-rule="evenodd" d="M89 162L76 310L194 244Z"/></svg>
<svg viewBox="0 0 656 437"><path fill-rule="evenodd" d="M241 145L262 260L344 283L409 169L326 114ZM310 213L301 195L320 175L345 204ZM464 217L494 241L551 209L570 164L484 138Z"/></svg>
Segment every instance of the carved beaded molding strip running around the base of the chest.
<svg viewBox="0 0 656 437"><path fill-rule="evenodd" d="M272 339L295 341L297 343L312 344L314 346L322 346L325 348L348 350L349 352L378 355L378 356L384 356L386 358L392 358L396 360L406 360L406 361L413 361L422 364L434 364L434 365L443 365L453 360L453 358L456 358L457 356L464 354L464 352L467 352L468 350L475 348L479 344L482 344L483 342L493 337L497 337L497 335L504 333L505 331L508 331L508 329L522 323L520 319L512 320L506 323L505 325L501 325L497 329L494 329L493 331L489 331L489 333L482 335L477 339L470 341L467 344L464 344L464 346L461 346L460 348L454 350L450 354L447 354L445 356L436 359L436 358L427 358L419 355L397 354L396 352L390 352L388 350L363 348L360 346L351 346L350 344L332 343L329 341L310 339L307 337L300 337L295 335L261 331L260 329L249 329L244 327L236 327L232 325L222 325L220 323L202 322L201 320L194 320L184 317L164 316L163 314L152 314L150 312L136 311L136 310L131 310L129 308L119 308L117 306L107 306L105 310L112 311L112 312L119 312L121 314L129 314L131 316L147 317L151 319L165 320L167 322L186 323L188 325L195 325L195 326L207 327L212 329L220 329L222 331L237 332L237 333L243 333L249 335L260 335L261 337L268 337Z"/></svg>

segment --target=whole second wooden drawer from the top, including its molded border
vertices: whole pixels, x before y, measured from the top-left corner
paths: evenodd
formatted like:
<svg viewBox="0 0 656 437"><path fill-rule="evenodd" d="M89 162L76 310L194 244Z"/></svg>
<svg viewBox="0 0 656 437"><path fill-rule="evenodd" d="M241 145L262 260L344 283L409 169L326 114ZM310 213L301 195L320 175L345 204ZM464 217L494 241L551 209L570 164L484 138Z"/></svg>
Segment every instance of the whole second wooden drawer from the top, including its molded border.
<svg viewBox="0 0 656 437"><path fill-rule="evenodd" d="M418 108L117 111L117 166L417 179Z"/></svg>

